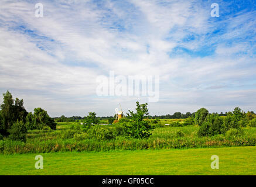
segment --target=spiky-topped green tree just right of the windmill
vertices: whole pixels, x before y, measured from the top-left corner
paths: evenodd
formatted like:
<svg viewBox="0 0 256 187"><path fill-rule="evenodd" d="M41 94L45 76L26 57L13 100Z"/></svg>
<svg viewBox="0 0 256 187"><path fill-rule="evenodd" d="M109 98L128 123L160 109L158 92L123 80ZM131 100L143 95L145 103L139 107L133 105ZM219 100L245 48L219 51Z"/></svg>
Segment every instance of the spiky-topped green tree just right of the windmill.
<svg viewBox="0 0 256 187"><path fill-rule="evenodd" d="M128 128L128 134L134 138L145 138L151 135L150 131L152 126L149 125L148 120L144 120L149 115L148 103L139 105L136 102L136 113L129 110L127 115L131 119L131 125Z"/></svg>

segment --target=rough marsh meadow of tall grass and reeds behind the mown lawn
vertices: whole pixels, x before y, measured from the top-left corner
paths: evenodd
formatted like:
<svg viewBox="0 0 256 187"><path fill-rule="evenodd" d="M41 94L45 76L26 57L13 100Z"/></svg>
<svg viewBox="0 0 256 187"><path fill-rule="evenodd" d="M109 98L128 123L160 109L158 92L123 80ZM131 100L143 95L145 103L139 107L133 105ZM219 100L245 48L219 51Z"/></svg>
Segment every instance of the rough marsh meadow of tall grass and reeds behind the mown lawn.
<svg viewBox="0 0 256 187"><path fill-rule="evenodd" d="M209 148L255 146L256 127L243 127L241 136L228 137L197 136L198 126L165 126L176 119L163 119L161 126L152 130L148 138L138 139L115 136L110 140L87 137L80 122L57 123L56 130L29 130L26 143L22 141L0 140L0 154L54 153L67 151L111 151L111 150L159 150L173 148ZM179 119L181 122L182 120ZM106 122L106 121L105 121ZM104 123L104 122L101 122ZM113 125L100 125L105 131Z"/></svg>

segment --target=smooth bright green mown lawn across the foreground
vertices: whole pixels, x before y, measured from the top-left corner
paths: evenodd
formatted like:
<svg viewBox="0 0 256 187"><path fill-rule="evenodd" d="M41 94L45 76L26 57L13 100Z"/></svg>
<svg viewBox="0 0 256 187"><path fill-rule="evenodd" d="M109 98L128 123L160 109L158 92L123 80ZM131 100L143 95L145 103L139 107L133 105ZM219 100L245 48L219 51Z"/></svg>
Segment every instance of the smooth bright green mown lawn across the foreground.
<svg viewBox="0 0 256 187"><path fill-rule="evenodd" d="M36 155L0 155L0 175L256 175L256 147L47 153L43 169Z"/></svg>

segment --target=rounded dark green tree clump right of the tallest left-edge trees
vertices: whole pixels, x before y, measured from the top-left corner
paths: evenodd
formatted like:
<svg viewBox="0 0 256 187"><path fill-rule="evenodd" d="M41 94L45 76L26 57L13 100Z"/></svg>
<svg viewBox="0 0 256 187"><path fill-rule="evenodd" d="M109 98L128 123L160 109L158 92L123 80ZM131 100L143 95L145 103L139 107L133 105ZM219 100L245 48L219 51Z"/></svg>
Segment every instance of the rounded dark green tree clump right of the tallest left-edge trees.
<svg viewBox="0 0 256 187"><path fill-rule="evenodd" d="M56 129L56 123L42 108L34 109L34 114L29 113L26 117L26 127L30 130L43 129L45 126Z"/></svg>

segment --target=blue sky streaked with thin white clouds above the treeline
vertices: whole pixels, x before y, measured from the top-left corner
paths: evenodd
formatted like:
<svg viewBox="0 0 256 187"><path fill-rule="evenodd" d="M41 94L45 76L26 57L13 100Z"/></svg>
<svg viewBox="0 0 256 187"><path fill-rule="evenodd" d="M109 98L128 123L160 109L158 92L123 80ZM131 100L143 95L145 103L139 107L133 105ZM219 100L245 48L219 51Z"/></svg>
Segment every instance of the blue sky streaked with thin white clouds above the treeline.
<svg viewBox="0 0 256 187"><path fill-rule="evenodd" d="M136 101L150 115L256 112L255 18L250 0L1 0L0 92L52 117L114 116L119 103L128 112ZM97 95L97 78L110 71L159 75L159 101Z"/></svg>

